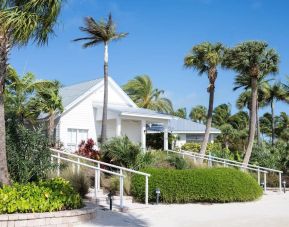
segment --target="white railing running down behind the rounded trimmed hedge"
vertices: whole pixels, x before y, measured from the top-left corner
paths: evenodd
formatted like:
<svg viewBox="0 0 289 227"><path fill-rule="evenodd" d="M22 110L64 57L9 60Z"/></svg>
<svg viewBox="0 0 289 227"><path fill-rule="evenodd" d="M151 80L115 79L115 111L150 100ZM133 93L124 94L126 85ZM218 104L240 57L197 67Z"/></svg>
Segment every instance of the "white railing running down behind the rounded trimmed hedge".
<svg viewBox="0 0 289 227"><path fill-rule="evenodd" d="M173 151L173 150L167 150L167 154L171 152L171 153L176 153L181 155L183 158L185 156L187 157L191 157L194 159L201 159L201 160L207 160L207 164L208 166L212 166L212 163L218 163L218 164L222 164L224 167L227 166L232 166L232 167L237 167L241 170L251 170L254 172L257 172L257 178L258 178L258 184L260 185L261 183L261 173L264 174L263 179L264 179L264 191L266 191L267 189L267 173L268 172L273 172L273 173L277 173L279 175L279 190L280 192L282 191L282 171L280 170L276 170L276 169L271 169L271 168L266 168L266 167L262 167L262 166L256 166L256 165L252 165L252 164L248 164L248 165L244 165L242 162L238 162L238 161L234 161L234 160L230 160L230 159L224 159L224 158L219 158L219 157L215 157L213 155L202 155L200 153L196 153L196 152L192 152L192 151L184 151L184 150L180 150L180 151Z"/></svg>

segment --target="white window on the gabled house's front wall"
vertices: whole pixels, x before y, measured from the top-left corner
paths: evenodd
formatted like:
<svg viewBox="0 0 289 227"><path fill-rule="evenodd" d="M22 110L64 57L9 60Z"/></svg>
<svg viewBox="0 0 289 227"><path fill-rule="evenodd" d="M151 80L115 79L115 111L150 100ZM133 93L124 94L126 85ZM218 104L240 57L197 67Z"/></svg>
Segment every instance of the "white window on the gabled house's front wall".
<svg viewBox="0 0 289 227"><path fill-rule="evenodd" d="M82 140L87 140L88 130L87 129L74 129L69 128L67 130L67 148L70 151L76 151L77 146Z"/></svg>

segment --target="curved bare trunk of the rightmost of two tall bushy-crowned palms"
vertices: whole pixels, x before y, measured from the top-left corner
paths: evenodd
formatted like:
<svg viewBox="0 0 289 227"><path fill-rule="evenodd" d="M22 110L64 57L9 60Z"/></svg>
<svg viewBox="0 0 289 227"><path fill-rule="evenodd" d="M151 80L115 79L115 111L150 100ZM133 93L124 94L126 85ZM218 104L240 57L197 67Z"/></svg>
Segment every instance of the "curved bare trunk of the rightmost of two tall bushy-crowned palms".
<svg viewBox="0 0 289 227"><path fill-rule="evenodd" d="M248 141L248 146L247 146L245 158L243 161L243 164L245 166L248 165L250 157L251 157L251 153L252 153L252 149L253 149L253 145L254 145L255 131L256 131L257 97L258 97L257 77L252 77L251 87L252 87L252 94L251 94L249 141Z"/></svg>

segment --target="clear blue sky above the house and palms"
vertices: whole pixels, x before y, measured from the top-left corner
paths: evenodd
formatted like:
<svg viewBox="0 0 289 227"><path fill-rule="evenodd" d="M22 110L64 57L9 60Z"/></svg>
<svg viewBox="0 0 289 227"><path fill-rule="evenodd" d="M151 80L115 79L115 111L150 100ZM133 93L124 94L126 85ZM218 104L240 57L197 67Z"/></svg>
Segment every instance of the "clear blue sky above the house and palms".
<svg viewBox="0 0 289 227"><path fill-rule="evenodd" d="M289 2L286 0L66 0L56 36L48 46L14 49L10 63L38 78L57 79L64 85L103 75L103 47L83 49L72 42L82 37L79 26L85 16L105 18L111 12L118 30L127 38L109 47L109 74L120 85L136 75L151 76L164 89L174 107L207 106L208 79L183 67L193 45L203 41L233 46L246 40L264 40L280 54L277 79L289 75ZM233 71L219 70L215 105L231 103ZM288 112L278 103L277 112ZM268 109L263 110L266 111Z"/></svg>

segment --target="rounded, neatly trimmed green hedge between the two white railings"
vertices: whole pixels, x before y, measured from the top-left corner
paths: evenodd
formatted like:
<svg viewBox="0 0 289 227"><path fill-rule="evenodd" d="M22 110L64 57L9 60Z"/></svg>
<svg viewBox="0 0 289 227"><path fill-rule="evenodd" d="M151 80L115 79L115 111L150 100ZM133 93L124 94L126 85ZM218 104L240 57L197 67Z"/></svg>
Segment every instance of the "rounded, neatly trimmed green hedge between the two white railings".
<svg viewBox="0 0 289 227"><path fill-rule="evenodd" d="M160 201L164 203L190 202L242 202L251 201L262 195L262 189L249 174L231 168L207 169L156 169L147 168L150 173L149 201L155 202L155 189L161 191ZM145 178L134 175L132 195L144 201Z"/></svg>

